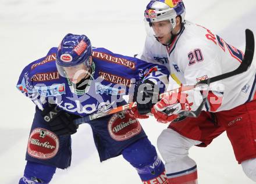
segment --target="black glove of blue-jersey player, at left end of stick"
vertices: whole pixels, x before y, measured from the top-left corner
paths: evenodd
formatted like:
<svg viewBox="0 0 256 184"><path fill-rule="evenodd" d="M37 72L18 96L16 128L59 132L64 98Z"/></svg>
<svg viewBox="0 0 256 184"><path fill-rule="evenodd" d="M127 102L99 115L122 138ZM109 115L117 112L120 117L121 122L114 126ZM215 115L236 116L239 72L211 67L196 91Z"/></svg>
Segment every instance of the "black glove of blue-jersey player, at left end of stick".
<svg viewBox="0 0 256 184"><path fill-rule="evenodd" d="M76 133L79 127L73 123L73 120L80 116L69 114L53 104L49 104L49 106L45 107L41 115L49 124L51 131L56 135L72 135Z"/></svg>

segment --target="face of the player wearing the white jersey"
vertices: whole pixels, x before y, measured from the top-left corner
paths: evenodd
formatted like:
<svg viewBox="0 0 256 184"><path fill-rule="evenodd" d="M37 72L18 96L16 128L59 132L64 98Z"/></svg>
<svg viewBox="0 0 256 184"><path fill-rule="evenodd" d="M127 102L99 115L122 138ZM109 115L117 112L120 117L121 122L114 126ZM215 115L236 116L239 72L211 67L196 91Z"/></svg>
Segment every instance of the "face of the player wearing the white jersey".
<svg viewBox="0 0 256 184"><path fill-rule="evenodd" d="M169 44L170 38L172 37L172 25L169 20L157 21L152 23L152 28L161 44Z"/></svg>

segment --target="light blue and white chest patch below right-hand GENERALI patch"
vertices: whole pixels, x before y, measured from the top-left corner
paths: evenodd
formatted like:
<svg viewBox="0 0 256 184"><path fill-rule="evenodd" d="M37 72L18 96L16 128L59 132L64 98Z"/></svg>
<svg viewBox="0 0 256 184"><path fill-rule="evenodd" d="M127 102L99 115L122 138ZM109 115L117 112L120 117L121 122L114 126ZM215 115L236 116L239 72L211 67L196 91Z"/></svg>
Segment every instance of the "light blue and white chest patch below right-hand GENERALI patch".
<svg viewBox="0 0 256 184"><path fill-rule="evenodd" d="M124 95L125 89L112 88L111 86L102 85L99 82L95 82L95 91L96 93L108 95Z"/></svg>

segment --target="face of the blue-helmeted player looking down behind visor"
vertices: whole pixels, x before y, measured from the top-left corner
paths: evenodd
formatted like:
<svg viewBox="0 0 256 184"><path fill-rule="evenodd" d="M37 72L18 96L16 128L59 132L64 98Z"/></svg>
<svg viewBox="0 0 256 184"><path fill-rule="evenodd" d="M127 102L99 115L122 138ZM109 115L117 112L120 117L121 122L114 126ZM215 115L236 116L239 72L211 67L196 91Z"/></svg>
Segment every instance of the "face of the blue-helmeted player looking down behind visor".
<svg viewBox="0 0 256 184"><path fill-rule="evenodd" d="M92 60L90 56L90 62ZM65 67L65 74L66 77L69 78L69 80L73 84L77 84L80 82L83 78L86 78L89 75L90 68L87 68L84 63L81 63L77 66L72 67Z"/></svg>

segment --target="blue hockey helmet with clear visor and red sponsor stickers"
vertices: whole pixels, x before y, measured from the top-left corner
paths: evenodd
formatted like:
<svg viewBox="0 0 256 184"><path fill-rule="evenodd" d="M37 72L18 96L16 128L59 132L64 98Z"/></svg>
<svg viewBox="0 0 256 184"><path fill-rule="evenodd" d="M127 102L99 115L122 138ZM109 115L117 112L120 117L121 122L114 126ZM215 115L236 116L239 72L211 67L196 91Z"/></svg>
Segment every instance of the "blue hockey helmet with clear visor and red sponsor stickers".
<svg viewBox="0 0 256 184"><path fill-rule="evenodd" d="M91 54L91 42L86 35L67 34L62 39L56 54L56 67L59 74L67 77L67 68L79 68L79 66L84 66L88 70L91 67L89 59Z"/></svg>

